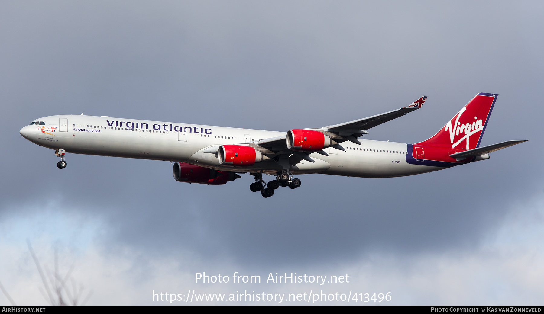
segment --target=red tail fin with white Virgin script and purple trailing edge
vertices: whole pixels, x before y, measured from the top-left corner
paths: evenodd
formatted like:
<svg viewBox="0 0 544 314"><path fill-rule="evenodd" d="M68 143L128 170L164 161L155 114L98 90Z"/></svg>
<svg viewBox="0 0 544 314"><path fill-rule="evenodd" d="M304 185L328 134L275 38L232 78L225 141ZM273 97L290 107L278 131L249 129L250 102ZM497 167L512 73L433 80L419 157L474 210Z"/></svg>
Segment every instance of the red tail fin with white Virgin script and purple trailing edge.
<svg viewBox="0 0 544 314"><path fill-rule="evenodd" d="M417 144L458 149L478 148L497 96L479 93L438 133Z"/></svg>

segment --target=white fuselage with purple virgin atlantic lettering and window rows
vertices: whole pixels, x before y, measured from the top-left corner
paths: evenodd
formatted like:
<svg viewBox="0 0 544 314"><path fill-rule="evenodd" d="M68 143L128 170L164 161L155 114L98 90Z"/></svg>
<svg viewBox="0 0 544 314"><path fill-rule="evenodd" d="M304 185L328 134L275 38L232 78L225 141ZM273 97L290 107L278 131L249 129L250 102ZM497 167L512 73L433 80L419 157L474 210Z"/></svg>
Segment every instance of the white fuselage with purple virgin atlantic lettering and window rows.
<svg viewBox="0 0 544 314"><path fill-rule="evenodd" d="M116 156L189 162L222 171L276 173L274 160L257 162L251 167L220 165L217 154L204 153L211 146L249 145L261 139L283 136L285 132L215 127L172 122L120 119L83 115L39 118L44 125L27 125L20 131L27 140L66 153ZM127 128L128 124L128 128ZM56 128L56 129L55 129ZM406 161L406 143L360 140L341 143L346 150L325 148L329 156L312 153L315 162L306 160L291 166L293 173L324 173L350 177L400 177L443 169L413 165Z"/></svg>

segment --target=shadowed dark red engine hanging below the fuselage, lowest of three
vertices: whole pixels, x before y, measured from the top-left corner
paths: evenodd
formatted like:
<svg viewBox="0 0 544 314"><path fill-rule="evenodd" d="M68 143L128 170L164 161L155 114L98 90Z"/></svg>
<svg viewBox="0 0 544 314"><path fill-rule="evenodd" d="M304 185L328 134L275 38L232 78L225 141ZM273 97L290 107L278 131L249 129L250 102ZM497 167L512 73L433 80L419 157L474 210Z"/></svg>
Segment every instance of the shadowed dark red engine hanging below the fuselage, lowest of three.
<svg viewBox="0 0 544 314"><path fill-rule="evenodd" d="M176 181L209 185L226 184L228 181L241 178L234 172L208 169L187 164L186 162L175 162L172 173L174 174L174 180Z"/></svg>

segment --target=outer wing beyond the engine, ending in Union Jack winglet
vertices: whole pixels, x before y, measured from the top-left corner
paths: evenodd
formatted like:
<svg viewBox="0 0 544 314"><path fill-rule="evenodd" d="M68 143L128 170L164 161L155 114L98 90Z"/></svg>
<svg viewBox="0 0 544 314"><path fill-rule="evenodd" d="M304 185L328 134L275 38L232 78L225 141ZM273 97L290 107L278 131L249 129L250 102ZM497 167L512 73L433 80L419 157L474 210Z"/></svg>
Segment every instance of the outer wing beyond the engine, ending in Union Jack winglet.
<svg viewBox="0 0 544 314"><path fill-rule="evenodd" d="M339 123L335 125L329 125L328 127L324 127L324 129L327 128L327 131L331 131L331 132L336 130L343 131L345 129L368 130L370 128L374 128L376 125L380 125L387 121L391 121L398 117L404 116L408 112L412 112L414 110L421 108L421 106L426 101L426 99L427 99L427 96L423 96L419 98L417 101L403 108L384 112L383 114L370 116L370 117L362 118L359 120Z"/></svg>

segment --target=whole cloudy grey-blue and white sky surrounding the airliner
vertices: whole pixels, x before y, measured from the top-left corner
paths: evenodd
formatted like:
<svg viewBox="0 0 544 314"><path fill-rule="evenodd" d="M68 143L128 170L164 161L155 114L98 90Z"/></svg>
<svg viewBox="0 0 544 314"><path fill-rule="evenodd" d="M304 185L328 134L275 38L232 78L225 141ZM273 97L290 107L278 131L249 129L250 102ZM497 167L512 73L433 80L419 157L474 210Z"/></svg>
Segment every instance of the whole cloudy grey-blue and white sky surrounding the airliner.
<svg viewBox="0 0 544 314"><path fill-rule="evenodd" d="M73 265L87 304L170 304L152 291L193 290L541 304L543 14L536 1L0 0L0 282L18 305L48 304L28 239L44 269L55 250L62 275ZM426 95L364 136L414 143L478 92L499 94L482 145L530 141L405 178L300 175L300 189L267 199L249 175L184 184L165 161L69 154L60 171L52 150L18 134L82 112L287 131ZM202 272L262 282L195 284ZM264 282L276 272L350 282Z"/></svg>

